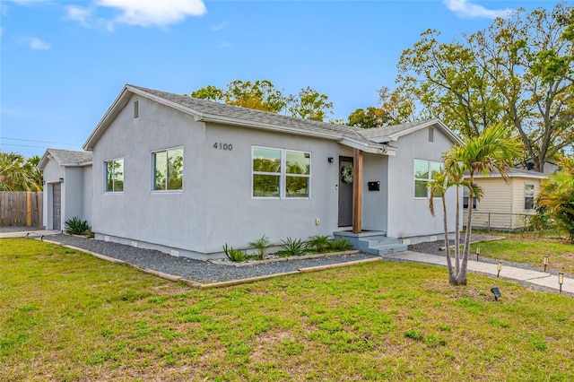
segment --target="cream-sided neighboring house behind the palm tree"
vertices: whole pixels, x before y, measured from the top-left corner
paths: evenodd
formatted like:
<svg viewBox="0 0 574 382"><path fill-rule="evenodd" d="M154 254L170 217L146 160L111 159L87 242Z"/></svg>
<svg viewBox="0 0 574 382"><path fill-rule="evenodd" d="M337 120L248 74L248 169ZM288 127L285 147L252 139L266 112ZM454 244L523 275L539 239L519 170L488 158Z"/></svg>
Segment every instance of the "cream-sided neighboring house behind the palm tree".
<svg viewBox="0 0 574 382"><path fill-rule="evenodd" d="M483 187L480 201L472 201L473 227L499 230L522 230L529 224L529 216L536 213L535 197L540 192L542 180L547 174L526 169L510 169L508 183L500 173L474 176L474 182ZM471 204L468 190L463 197L464 224L466 211Z"/></svg>

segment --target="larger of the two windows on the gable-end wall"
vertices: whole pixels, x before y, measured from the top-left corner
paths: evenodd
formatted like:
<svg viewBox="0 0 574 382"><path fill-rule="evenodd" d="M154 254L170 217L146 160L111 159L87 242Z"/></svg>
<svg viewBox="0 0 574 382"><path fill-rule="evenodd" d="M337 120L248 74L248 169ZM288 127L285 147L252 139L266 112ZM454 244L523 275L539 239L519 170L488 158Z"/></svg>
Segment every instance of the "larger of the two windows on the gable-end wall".
<svg viewBox="0 0 574 382"><path fill-rule="evenodd" d="M153 191L183 189L183 148L152 153Z"/></svg>

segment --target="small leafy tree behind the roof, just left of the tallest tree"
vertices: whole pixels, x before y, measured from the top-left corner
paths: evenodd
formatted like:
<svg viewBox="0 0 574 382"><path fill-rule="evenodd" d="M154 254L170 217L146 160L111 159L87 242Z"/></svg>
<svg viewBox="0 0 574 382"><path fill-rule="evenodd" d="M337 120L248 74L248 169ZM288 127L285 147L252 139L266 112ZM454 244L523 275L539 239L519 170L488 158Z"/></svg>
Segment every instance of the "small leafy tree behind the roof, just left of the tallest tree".
<svg viewBox="0 0 574 382"><path fill-rule="evenodd" d="M396 125L413 121L414 102L410 94L399 90L389 91L382 87L378 90L379 106L356 109L347 120L347 125L371 128Z"/></svg>

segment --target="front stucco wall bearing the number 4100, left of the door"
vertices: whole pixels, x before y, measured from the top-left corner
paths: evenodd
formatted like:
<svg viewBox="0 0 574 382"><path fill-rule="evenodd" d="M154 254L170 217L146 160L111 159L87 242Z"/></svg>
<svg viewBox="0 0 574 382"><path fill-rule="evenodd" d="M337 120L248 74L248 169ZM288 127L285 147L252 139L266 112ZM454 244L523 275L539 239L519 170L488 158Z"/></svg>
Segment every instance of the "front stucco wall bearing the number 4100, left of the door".
<svg viewBox="0 0 574 382"><path fill-rule="evenodd" d="M215 143L231 144L232 150L214 148ZM254 198L253 146L310 152L310 198ZM336 160L338 155L352 155L350 149L334 141L211 124L206 128L204 147L207 253L221 252L224 243L245 248L264 234L278 243L287 237L332 235L337 229ZM329 157L334 161L328 162Z"/></svg>

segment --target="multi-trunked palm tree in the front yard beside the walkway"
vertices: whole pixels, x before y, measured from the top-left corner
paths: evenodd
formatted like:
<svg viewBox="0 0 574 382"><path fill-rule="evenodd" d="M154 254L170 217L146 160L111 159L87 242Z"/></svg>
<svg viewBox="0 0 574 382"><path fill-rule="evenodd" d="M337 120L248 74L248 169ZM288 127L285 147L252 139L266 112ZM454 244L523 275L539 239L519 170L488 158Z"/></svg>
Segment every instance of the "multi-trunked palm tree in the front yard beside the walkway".
<svg viewBox="0 0 574 382"><path fill-rule="evenodd" d="M503 125L493 125L483 130L477 137L465 139L464 145L452 147L443 154L444 169L429 182L432 191L430 195L442 195L443 223L445 227L445 243L448 247L447 203L444 195L449 187L457 187L457 211L455 229L455 269L452 268L450 251L447 251L448 281L453 285L465 285L468 256L470 253L470 236L472 232L473 209L469 208L466 220L465 246L460 253L460 235L458 221L460 219L459 188L468 187L468 198L480 200L483 189L474 183L474 176L488 175L493 171L507 179L512 160L520 152L520 143L508 135L508 129ZM466 178L465 178L466 176ZM432 196L431 196L432 198ZM434 213L433 203L430 202L431 213Z"/></svg>

